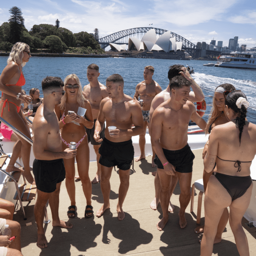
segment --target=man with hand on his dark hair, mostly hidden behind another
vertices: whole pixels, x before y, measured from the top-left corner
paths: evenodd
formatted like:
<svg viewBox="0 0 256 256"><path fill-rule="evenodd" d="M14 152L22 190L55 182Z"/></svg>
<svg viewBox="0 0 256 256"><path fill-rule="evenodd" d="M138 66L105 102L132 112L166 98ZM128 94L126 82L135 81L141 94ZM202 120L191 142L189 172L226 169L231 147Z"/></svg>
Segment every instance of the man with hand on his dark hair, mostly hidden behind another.
<svg viewBox="0 0 256 256"><path fill-rule="evenodd" d="M171 67L169 67L169 71L168 71L168 79L169 81L174 78L174 76L184 76L189 82L191 82L191 88L193 89L193 91L190 91L189 93L189 99L191 102L200 102L204 100L204 94L202 92L202 89L199 87L199 85L195 82L195 80L193 80L193 78L191 78L189 72L187 71L187 69L183 66L183 65L173 65ZM171 95L171 90L170 90L170 85L167 86L167 88L163 91L161 91L161 93L159 93L153 100L152 100L152 104L151 104L151 108L150 108L150 116L149 116L149 120L151 122L151 118L152 115L154 113L154 110L160 106L160 104L162 104L163 102L165 102L166 100L169 100ZM153 175L156 175L155 177L155 190L156 190L156 197L154 198L154 200L151 202L150 204L150 208L153 210L157 209L158 203L160 202L160 180L158 177L157 172L152 173ZM171 185L171 195L176 187L176 184L178 182L178 176L175 175L172 178L172 185ZM174 210L174 206L173 204L169 204L169 208L168 211L172 212Z"/></svg>

